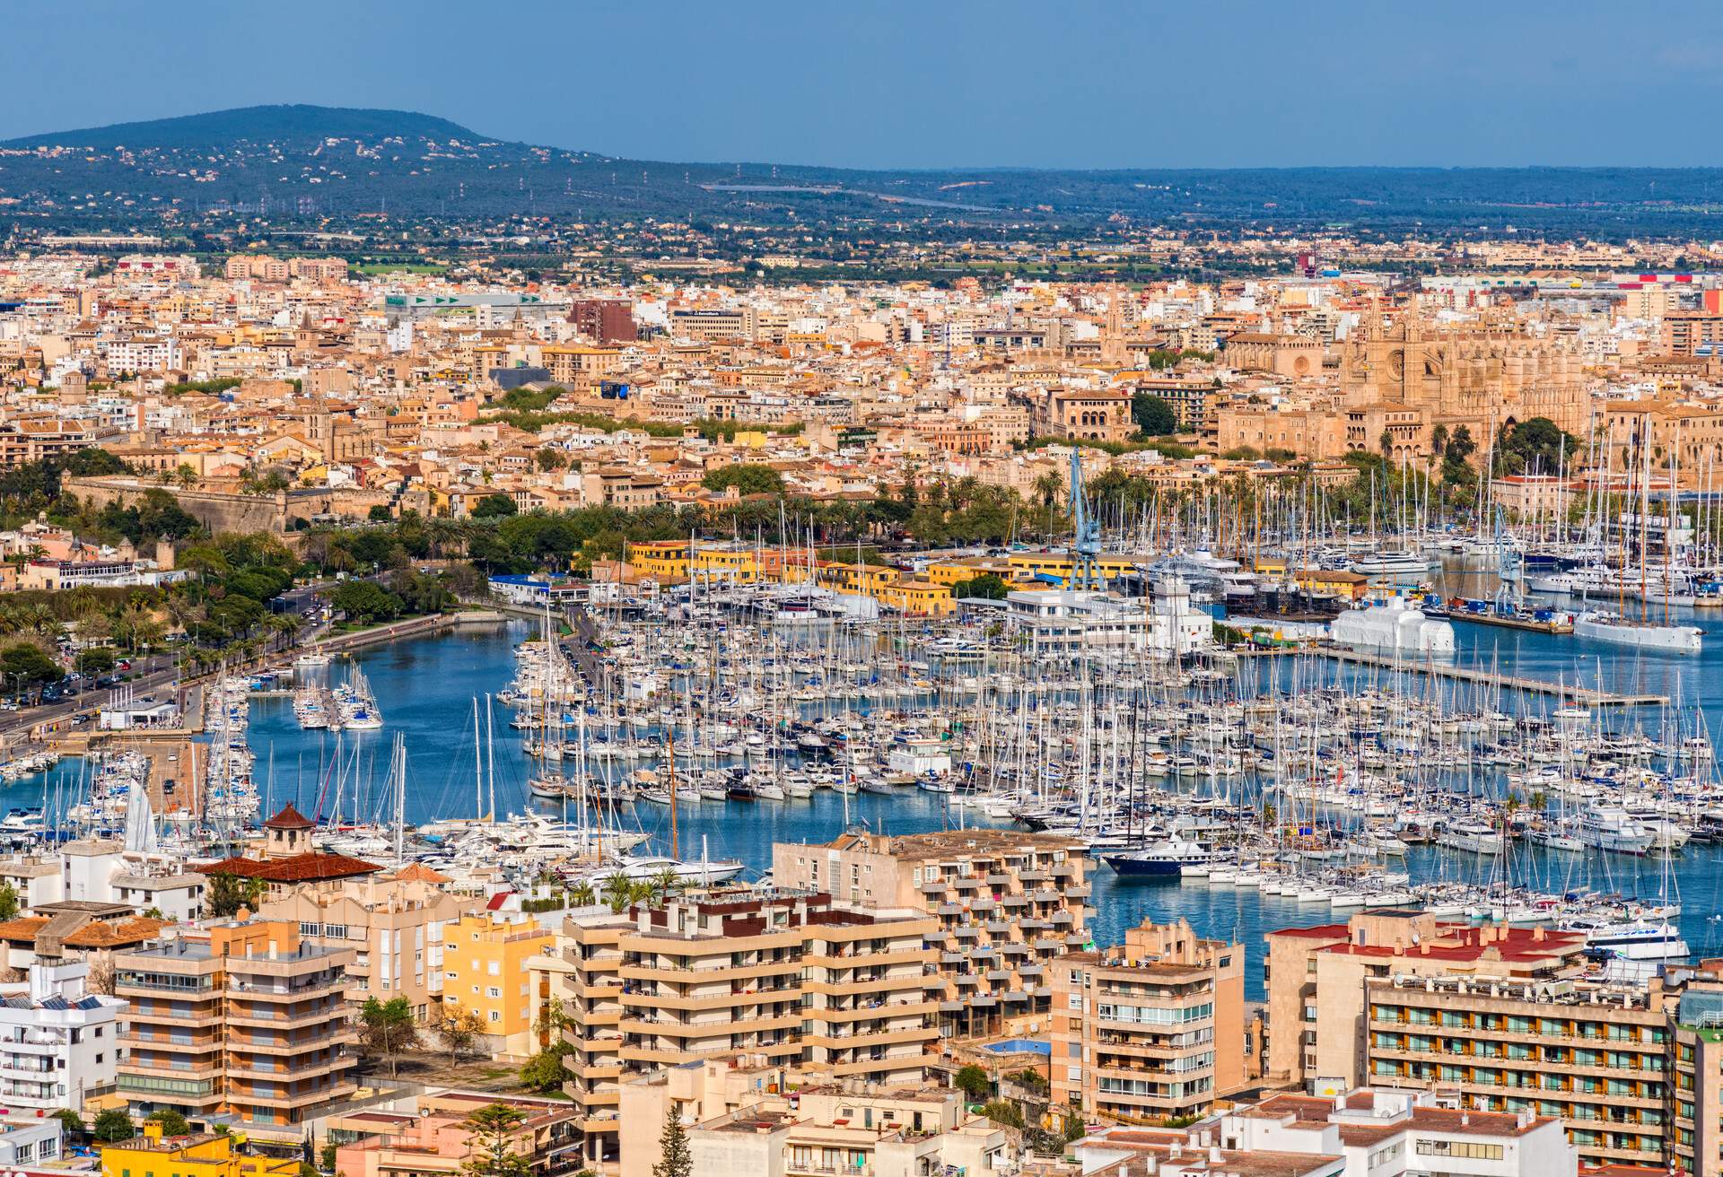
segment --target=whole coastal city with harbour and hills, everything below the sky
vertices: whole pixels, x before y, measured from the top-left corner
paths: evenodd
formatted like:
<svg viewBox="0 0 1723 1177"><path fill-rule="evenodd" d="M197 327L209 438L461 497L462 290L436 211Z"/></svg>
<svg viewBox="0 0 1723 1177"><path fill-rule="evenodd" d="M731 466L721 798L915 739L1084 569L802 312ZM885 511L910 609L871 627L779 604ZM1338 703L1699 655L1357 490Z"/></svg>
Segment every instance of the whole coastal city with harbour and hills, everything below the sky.
<svg viewBox="0 0 1723 1177"><path fill-rule="evenodd" d="M1723 172L855 159L0 141L7 1174L1723 1177Z"/></svg>

